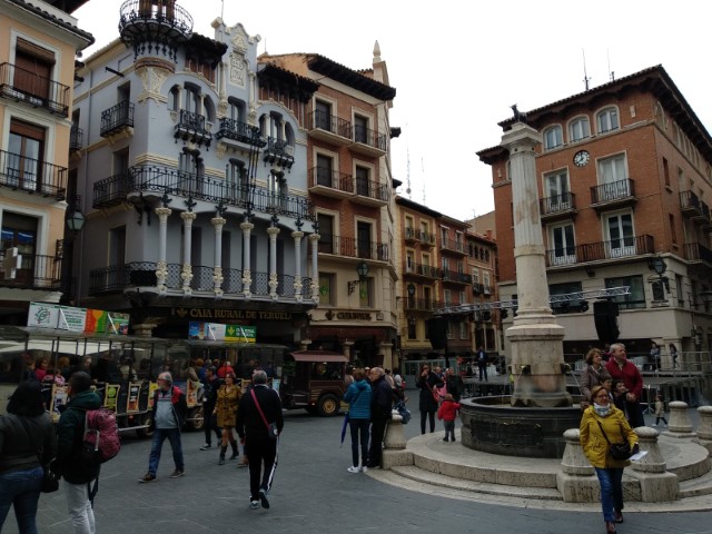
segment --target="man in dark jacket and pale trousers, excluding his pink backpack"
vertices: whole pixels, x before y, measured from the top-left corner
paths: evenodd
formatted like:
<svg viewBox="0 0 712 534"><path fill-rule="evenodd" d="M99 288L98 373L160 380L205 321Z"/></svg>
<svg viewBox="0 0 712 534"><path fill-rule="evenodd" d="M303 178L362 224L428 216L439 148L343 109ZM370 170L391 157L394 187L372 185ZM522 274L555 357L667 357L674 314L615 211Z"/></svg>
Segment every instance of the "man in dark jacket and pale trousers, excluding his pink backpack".
<svg viewBox="0 0 712 534"><path fill-rule="evenodd" d="M101 398L91 390L91 377L78 370L69 378L69 403L57 425L57 459L52 471L65 479L67 507L75 532L96 533L89 483L99 476L98 466L78 459L81 454L88 409L101 407Z"/></svg>

